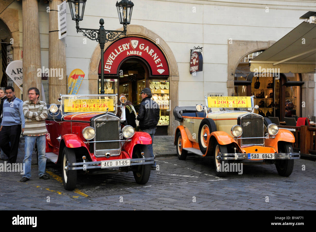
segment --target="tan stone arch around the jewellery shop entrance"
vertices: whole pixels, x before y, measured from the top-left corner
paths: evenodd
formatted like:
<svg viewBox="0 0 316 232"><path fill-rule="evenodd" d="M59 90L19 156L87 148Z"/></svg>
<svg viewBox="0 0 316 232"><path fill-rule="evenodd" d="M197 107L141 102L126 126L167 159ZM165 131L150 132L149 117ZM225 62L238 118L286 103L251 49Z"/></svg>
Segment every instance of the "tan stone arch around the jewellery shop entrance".
<svg viewBox="0 0 316 232"><path fill-rule="evenodd" d="M118 30L123 30L120 28ZM168 134L172 135L175 132L175 129L179 125L178 121L174 120L174 116L172 113L172 109L178 105L179 97L178 97L178 88L179 88L179 71L178 71L178 64L174 57L173 52L171 51L170 47L167 43L156 33L143 27L141 25L128 25L126 36L137 36L143 37L152 42L156 43L156 45L160 48L161 52L167 59L168 67L169 67L169 81L170 81L170 125L168 128ZM111 43L106 43L104 50ZM101 52L99 44L95 47L94 52L92 54L90 64L89 64L89 94L95 94L98 91L98 68L101 59Z"/></svg>

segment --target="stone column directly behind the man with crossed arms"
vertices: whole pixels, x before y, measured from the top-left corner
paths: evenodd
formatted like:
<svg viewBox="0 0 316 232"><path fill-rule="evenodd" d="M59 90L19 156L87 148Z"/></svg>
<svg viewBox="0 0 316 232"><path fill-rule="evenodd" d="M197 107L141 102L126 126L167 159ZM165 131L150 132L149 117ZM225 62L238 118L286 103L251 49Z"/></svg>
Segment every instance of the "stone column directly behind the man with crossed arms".
<svg viewBox="0 0 316 232"><path fill-rule="evenodd" d="M30 87L36 87L40 90L40 100L42 100L42 78L37 76L37 69L41 68L37 2L37 0L22 1L23 101L27 100L27 89Z"/></svg>

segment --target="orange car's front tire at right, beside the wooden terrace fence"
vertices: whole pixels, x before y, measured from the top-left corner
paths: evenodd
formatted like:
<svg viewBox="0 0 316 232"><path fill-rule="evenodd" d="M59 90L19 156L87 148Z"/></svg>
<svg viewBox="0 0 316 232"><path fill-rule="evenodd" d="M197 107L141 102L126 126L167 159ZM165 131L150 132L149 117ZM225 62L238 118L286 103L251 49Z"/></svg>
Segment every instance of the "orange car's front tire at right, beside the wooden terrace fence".
<svg viewBox="0 0 316 232"><path fill-rule="evenodd" d="M289 149L290 148L290 149ZM293 147L291 143L280 143L278 146L279 153L292 153ZM294 160L276 160L276 170L280 176L289 176L292 174Z"/></svg>

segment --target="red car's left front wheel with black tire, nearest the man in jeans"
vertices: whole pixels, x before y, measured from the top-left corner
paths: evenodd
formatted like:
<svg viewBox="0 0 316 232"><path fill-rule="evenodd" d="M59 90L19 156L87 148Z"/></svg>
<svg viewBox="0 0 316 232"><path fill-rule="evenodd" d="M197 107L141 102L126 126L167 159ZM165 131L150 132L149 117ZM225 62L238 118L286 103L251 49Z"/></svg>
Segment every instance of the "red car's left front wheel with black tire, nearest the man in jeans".
<svg viewBox="0 0 316 232"><path fill-rule="evenodd" d="M63 156L62 156L62 174L63 174L63 183L66 190L74 190L77 182L77 170L65 170L64 167L69 163L76 162L76 155L74 150L64 147Z"/></svg>

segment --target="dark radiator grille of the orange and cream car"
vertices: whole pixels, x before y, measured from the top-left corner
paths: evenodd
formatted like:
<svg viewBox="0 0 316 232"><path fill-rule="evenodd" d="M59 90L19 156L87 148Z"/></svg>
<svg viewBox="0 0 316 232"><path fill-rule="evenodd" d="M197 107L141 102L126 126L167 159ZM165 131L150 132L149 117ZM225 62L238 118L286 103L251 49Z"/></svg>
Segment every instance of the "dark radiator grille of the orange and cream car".
<svg viewBox="0 0 316 232"><path fill-rule="evenodd" d="M241 118L242 138L264 137L263 118L248 114ZM241 139L241 145L264 144L264 138Z"/></svg>

